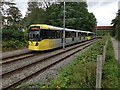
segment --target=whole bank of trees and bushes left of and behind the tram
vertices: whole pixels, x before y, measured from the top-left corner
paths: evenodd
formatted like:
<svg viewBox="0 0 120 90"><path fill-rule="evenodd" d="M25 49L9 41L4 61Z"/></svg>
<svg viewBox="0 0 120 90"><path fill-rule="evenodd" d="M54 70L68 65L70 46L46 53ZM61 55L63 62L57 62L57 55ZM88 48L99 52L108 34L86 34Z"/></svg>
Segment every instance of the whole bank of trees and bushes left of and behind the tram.
<svg viewBox="0 0 120 90"><path fill-rule="evenodd" d="M31 24L63 26L63 2L45 2L44 0L32 2L29 0L26 15L22 18L21 11L13 1L3 0L1 2L3 51L9 48L25 47L27 39L22 30L27 30ZM86 2L66 2L67 28L92 31L95 25L96 18L93 13L88 12Z"/></svg>

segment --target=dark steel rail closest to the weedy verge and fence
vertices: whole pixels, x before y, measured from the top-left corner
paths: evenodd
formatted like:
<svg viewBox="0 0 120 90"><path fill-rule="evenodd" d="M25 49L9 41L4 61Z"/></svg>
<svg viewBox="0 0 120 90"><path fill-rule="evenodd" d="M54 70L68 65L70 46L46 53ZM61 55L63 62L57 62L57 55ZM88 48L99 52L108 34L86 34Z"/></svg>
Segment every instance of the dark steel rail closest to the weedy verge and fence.
<svg viewBox="0 0 120 90"><path fill-rule="evenodd" d="M44 67L44 68L36 71L35 73L32 73L31 75L29 75L29 76L27 76L27 77L25 77L25 78L22 78L21 80L18 80L18 81L16 81L16 82L14 82L13 84L11 84L11 85L9 85L9 86L4 87L4 89L14 88L14 87L18 86L19 84L21 84L21 83L23 83L23 82L26 82L27 80L29 80L29 79L37 76L38 74L40 74L40 73L42 73L42 72L44 72L44 71L46 71L47 69L53 67L54 65L56 65L56 64L58 64L59 62L63 61L64 59L70 57L71 55L75 54L75 53L78 52L78 51L83 50L84 48L90 46L90 45L93 44L93 43L94 43L94 42L88 43L88 44L86 44L83 48L78 48L78 49L76 49L76 50L75 50L75 49L72 49L73 52L71 52L71 53L69 53L69 54L66 54L64 57L61 57L60 59L58 58L58 60L56 60L56 62L54 62L54 63L52 63L52 64L50 64L50 65L48 65L48 66L46 66L46 67Z"/></svg>

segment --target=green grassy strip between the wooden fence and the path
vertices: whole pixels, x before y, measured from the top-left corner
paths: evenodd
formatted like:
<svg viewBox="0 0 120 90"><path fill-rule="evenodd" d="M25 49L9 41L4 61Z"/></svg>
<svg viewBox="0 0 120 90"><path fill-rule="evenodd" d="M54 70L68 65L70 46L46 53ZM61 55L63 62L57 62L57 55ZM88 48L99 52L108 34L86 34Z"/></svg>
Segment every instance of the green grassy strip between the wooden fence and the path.
<svg viewBox="0 0 120 90"><path fill-rule="evenodd" d="M111 40L108 41L105 64L103 67L102 87L118 88L118 65Z"/></svg>

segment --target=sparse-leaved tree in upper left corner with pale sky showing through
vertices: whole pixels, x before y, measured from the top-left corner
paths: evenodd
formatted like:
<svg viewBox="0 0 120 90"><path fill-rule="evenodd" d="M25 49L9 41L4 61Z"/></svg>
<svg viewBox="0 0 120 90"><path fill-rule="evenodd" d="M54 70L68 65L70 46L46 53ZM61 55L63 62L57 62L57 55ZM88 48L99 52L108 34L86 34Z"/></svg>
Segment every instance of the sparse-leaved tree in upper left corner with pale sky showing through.
<svg viewBox="0 0 120 90"><path fill-rule="evenodd" d="M1 2L2 22L5 26L18 28L18 23L21 20L22 14L12 2Z"/></svg>

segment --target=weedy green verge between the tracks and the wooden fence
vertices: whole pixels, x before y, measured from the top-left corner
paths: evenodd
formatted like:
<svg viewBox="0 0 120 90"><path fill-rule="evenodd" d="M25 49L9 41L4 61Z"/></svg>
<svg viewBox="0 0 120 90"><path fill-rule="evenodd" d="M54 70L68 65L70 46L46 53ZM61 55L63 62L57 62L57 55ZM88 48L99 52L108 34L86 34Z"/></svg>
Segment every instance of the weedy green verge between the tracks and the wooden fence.
<svg viewBox="0 0 120 90"><path fill-rule="evenodd" d="M97 55L103 53L107 37L97 41L64 67L49 85L32 83L22 88L95 88Z"/></svg>

